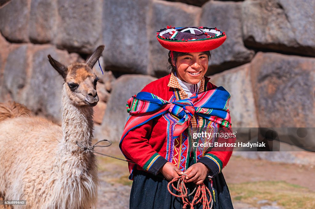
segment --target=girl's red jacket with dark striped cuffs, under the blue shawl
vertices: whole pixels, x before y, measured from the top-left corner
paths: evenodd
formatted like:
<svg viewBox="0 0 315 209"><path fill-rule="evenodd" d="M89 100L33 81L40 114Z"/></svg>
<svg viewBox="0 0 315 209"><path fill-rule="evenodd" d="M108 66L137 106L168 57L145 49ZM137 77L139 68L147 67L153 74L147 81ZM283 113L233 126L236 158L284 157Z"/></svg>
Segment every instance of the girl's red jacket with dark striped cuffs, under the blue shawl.
<svg viewBox="0 0 315 209"><path fill-rule="evenodd" d="M164 100L174 99L175 92L178 89L168 86L170 77L171 74L153 81L146 85L142 91L155 94ZM215 85L209 82L209 78L204 78L204 91L216 88ZM178 152L180 152L181 148L180 150L174 150L174 146L178 145L178 143L173 143L173 145L171 145L169 142L169 135L171 133L168 133L168 131L170 131L168 127L170 121L173 119L176 121L170 114L158 116L153 120L138 126L134 130L129 131L124 137L120 144L121 151L126 158L129 158L129 160L137 164L136 167L134 167L133 164L129 163L129 171L131 173L129 177L130 179L133 178L133 169L145 170L157 175L159 169L161 169L166 162L171 162L172 159L175 159L176 156L178 162L176 163L176 160L174 160L172 163L182 171L187 169L185 165L180 165L181 162L186 160L185 157L180 158L178 156L180 155ZM215 126L219 127L217 123L215 123ZM197 157L197 159L198 162L205 164L211 170L209 175L215 176L226 166L231 154L232 152L229 151L218 152L211 149L210 152L203 153L202 156ZM186 163L186 161L184 163Z"/></svg>

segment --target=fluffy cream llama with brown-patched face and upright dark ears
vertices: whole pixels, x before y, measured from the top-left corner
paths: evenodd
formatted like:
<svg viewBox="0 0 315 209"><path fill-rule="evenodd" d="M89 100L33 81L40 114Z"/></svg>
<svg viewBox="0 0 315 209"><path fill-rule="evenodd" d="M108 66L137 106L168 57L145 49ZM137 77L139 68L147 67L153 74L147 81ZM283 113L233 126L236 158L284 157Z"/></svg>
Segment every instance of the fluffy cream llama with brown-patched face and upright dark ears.
<svg viewBox="0 0 315 209"><path fill-rule="evenodd" d="M93 106L99 101L92 68L103 50L101 45L86 63L68 67L48 55L65 80L61 127L31 116L23 105L0 103L0 195L27 204L14 209L96 207L96 158L76 142L91 146Z"/></svg>

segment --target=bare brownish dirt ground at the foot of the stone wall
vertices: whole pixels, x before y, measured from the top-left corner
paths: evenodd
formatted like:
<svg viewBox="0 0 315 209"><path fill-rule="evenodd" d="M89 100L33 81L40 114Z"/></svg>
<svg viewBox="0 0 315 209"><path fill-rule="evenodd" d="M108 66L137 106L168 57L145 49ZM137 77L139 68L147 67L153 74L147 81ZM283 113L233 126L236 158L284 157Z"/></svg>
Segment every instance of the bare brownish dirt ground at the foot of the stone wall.
<svg viewBox="0 0 315 209"><path fill-rule="evenodd" d="M123 158L123 155L120 153L118 145L115 143L111 147L98 149L98 151L106 154L112 154L115 157ZM98 208L129 208L129 193L132 182L128 180L129 172L127 169L127 163L99 155L98 159L100 178ZM293 185L294 188L305 188L307 189L307 192L310 192L309 194L311 196L314 195L314 201L312 201L311 204L315 205L315 168L313 165L307 166L287 163L275 163L266 160L246 159L232 155L228 165L223 169L223 174L231 191L232 201L235 209L288 208L288 206L283 207L281 205L278 205L277 201L272 201L272 198L270 198L270 200L260 200L258 197L253 197L252 199L256 200L255 204L253 205L249 204L249 201L245 201L246 199L242 201L243 199L240 198L239 195L233 196L233 194L236 192L233 191L233 188L237 188L243 183L248 183L248 185L245 185L245 187L255 187L255 185L253 186L250 183L259 183L265 181L271 182L271 184L273 184L273 182L275 182L275 184L288 183L290 185ZM259 191L260 188L259 186L257 187L258 188L254 189ZM263 189L261 188L261 190ZM270 187L270 190L273 190L272 186ZM274 188L274 190L276 190L276 188ZM280 196L281 195L282 194L280 194ZM261 206L257 206L257 204ZM294 208L315 207L299 206Z"/></svg>

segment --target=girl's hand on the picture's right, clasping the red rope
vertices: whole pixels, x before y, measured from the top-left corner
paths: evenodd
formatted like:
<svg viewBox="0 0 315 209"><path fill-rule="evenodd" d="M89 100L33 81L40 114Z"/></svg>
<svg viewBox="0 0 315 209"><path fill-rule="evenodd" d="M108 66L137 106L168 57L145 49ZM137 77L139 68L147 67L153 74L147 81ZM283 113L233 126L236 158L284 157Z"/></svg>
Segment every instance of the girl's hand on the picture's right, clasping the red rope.
<svg viewBox="0 0 315 209"><path fill-rule="evenodd" d="M209 171L203 163L195 163L185 171L185 174L187 174L186 180L200 185L206 179Z"/></svg>

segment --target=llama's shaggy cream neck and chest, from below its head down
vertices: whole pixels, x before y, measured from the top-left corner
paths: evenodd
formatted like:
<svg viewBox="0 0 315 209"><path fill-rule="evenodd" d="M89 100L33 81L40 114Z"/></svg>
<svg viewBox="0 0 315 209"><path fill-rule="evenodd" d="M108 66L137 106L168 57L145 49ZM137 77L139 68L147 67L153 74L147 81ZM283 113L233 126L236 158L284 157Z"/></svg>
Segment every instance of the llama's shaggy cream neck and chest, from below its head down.
<svg viewBox="0 0 315 209"><path fill-rule="evenodd" d="M43 208L91 208L97 203L97 163L94 153L84 152L76 144L91 146L93 108L72 104L62 89L62 131L50 178L52 194ZM96 208L96 207L95 207Z"/></svg>

